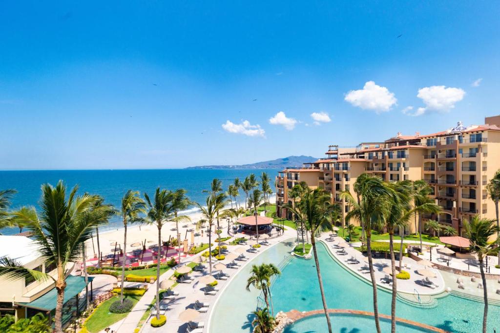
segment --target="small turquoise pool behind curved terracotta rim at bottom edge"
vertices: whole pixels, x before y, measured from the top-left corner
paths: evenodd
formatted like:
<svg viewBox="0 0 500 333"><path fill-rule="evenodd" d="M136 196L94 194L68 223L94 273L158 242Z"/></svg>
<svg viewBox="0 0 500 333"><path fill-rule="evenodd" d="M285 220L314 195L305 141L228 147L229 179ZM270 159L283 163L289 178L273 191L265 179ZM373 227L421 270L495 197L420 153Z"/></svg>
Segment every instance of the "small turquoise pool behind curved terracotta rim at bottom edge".
<svg viewBox="0 0 500 333"><path fill-rule="evenodd" d="M330 315L330 322L333 327L334 333L372 333L374 332L373 319L365 316L356 315L343 315L335 314ZM324 328L326 328L326 319L324 315L313 316L305 318L294 323L292 326L287 327L284 333L322 333ZM319 329L317 329L319 328ZM422 331L422 329L416 329L409 325L398 324L397 326L400 332L404 333L422 333L429 331ZM380 329L382 332L390 332L390 320L380 319Z"/></svg>

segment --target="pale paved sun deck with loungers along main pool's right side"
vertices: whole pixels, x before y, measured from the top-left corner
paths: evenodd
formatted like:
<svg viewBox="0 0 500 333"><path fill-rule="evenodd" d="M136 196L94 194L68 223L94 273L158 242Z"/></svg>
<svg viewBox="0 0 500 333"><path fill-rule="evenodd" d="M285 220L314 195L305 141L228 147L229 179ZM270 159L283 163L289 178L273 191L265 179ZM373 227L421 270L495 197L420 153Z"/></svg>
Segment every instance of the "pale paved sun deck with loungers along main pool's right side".
<svg viewBox="0 0 500 333"><path fill-rule="evenodd" d="M327 245L328 250L330 253L337 259L341 265L343 265L345 268L350 270L352 273L358 275L359 277L362 277L363 279L369 281L371 283L370 275L369 273L362 273L360 271L361 267L363 266L368 266L367 261L364 261L363 254L356 249L353 248L352 244L346 243L341 237L337 236L334 238L333 241L329 240L329 236L327 234L323 234L320 239ZM344 249L347 252L347 255L339 255L337 253L338 249L333 249L332 246L333 244L341 244L344 245ZM354 257L359 261L359 264L349 264L347 263L347 259ZM411 294L413 295L415 293L415 290L418 292L419 295L436 295L440 294L444 291L445 285L443 278L438 270L424 267L422 265L419 265L416 261L413 259L403 257L403 265L410 265L411 269L404 269L408 273L410 273L410 279L409 280L397 280L397 291L400 293L406 293L406 294ZM398 264L398 261L396 261L396 264ZM390 267L390 259L381 259L381 258L376 258L374 259L374 270L375 270L375 280L376 283L379 287L385 288L388 290L392 290L392 286L382 283L382 278L384 278L387 273L383 272L383 269L386 267ZM429 287L423 286L423 284L420 282L424 277L416 273L417 270L420 269L426 269L432 271L436 277L435 278L430 278L432 282L435 283L437 287L435 289L430 289ZM366 271L366 270L365 270Z"/></svg>

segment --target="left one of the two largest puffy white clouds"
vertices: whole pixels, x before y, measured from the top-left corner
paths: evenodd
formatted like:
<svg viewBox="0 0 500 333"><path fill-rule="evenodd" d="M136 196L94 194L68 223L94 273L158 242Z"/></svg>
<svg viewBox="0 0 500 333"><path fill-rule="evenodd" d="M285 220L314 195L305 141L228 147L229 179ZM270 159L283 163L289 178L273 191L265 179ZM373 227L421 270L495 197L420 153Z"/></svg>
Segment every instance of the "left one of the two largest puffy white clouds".
<svg viewBox="0 0 500 333"><path fill-rule="evenodd" d="M368 81L360 90L350 90L344 100L364 110L376 113L387 112L396 104L397 99L386 87L381 87L373 81Z"/></svg>

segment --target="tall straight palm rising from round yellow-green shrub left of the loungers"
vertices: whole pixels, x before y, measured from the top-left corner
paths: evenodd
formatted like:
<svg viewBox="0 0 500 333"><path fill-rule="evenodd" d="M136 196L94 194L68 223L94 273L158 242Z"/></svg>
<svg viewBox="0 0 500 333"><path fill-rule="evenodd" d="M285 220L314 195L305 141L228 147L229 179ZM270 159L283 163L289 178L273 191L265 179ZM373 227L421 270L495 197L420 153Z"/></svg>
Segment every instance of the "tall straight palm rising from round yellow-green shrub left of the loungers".
<svg viewBox="0 0 500 333"><path fill-rule="evenodd" d="M175 193L168 190L160 190L156 188L153 200L149 199L147 193L144 193L144 198L149 206L146 214L146 222L154 224L158 228L158 254L156 260L156 320L159 320L159 267L161 263L161 228L168 221L183 221L188 219L187 216L181 215L175 217Z"/></svg>

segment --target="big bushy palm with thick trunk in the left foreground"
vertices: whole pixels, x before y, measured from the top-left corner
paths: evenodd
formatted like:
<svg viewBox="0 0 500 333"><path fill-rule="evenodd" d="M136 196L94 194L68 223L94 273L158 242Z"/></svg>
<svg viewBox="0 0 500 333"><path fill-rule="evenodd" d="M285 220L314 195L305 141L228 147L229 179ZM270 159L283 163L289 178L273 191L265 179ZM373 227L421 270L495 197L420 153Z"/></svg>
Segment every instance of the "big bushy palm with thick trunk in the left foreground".
<svg viewBox="0 0 500 333"><path fill-rule="evenodd" d="M12 213L15 222L24 223L37 245L37 252L46 265L55 264L57 276L22 267L11 258L0 259L0 275L8 279L51 279L55 284L57 299L54 316L54 331L62 333L62 306L66 288L67 265L81 256L82 247L90 239L91 229L102 224L114 214L111 206L99 205L99 196L83 194L76 196L78 187L71 189L66 198L66 187L59 181L55 187L41 187L41 211L34 207L22 207Z"/></svg>

